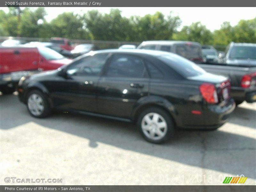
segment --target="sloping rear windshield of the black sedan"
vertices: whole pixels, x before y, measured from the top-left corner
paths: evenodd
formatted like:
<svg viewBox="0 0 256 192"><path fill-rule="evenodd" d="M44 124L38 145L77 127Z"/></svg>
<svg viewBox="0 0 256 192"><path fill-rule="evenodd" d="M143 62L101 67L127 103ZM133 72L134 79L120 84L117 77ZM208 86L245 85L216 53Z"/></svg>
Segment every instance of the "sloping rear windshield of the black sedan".
<svg viewBox="0 0 256 192"><path fill-rule="evenodd" d="M206 73L204 69L194 62L180 57L179 55L170 53L161 55L158 58L184 77L198 76Z"/></svg>

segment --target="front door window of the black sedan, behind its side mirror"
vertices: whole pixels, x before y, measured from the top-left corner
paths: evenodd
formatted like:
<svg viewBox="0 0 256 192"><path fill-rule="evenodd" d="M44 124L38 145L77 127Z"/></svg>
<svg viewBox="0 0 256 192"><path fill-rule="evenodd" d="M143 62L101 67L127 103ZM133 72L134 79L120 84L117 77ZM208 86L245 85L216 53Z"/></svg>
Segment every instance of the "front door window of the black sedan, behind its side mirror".
<svg viewBox="0 0 256 192"><path fill-rule="evenodd" d="M107 57L108 53L84 57L68 67L67 74L70 76L99 76Z"/></svg>

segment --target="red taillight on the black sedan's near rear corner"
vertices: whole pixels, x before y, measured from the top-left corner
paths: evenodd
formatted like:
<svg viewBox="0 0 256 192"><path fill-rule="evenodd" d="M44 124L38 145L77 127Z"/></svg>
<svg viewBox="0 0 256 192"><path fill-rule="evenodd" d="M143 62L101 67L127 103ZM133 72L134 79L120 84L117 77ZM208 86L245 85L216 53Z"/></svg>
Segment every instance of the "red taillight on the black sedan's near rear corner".
<svg viewBox="0 0 256 192"><path fill-rule="evenodd" d="M200 85L199 90L208 103L218 103L218 96L216 88L213 84L203 83Z"/></svg>

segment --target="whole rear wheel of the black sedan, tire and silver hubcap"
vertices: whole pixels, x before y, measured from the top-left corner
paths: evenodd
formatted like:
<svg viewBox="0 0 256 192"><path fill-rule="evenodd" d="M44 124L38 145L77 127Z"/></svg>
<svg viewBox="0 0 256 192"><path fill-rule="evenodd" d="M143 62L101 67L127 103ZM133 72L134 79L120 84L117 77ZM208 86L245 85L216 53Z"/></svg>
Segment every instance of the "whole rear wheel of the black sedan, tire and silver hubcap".
<svg viewBox="0 0 256 192"><path fill-rule="evenodd" d="M138 118L137 125L144 139L152 143L163 143L169 140L174 132L174 123L170 115L157 107L144 110Z"/></svg>

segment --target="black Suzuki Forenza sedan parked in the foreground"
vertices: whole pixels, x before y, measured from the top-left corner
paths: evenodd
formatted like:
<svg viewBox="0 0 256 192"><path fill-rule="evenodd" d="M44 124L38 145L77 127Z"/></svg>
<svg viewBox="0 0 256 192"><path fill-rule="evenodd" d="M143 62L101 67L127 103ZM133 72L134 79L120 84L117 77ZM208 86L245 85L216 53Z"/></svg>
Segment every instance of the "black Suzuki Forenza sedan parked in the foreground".
<svg viewBox="0 0 256 192"><path fill-rule="evenodd" d="M168 140L175 128L220 127L235 108L229 89L228 78L179 55L137 49L89 52L18 86L34 117L58 109L136 122L153 143Z"/></svg>

